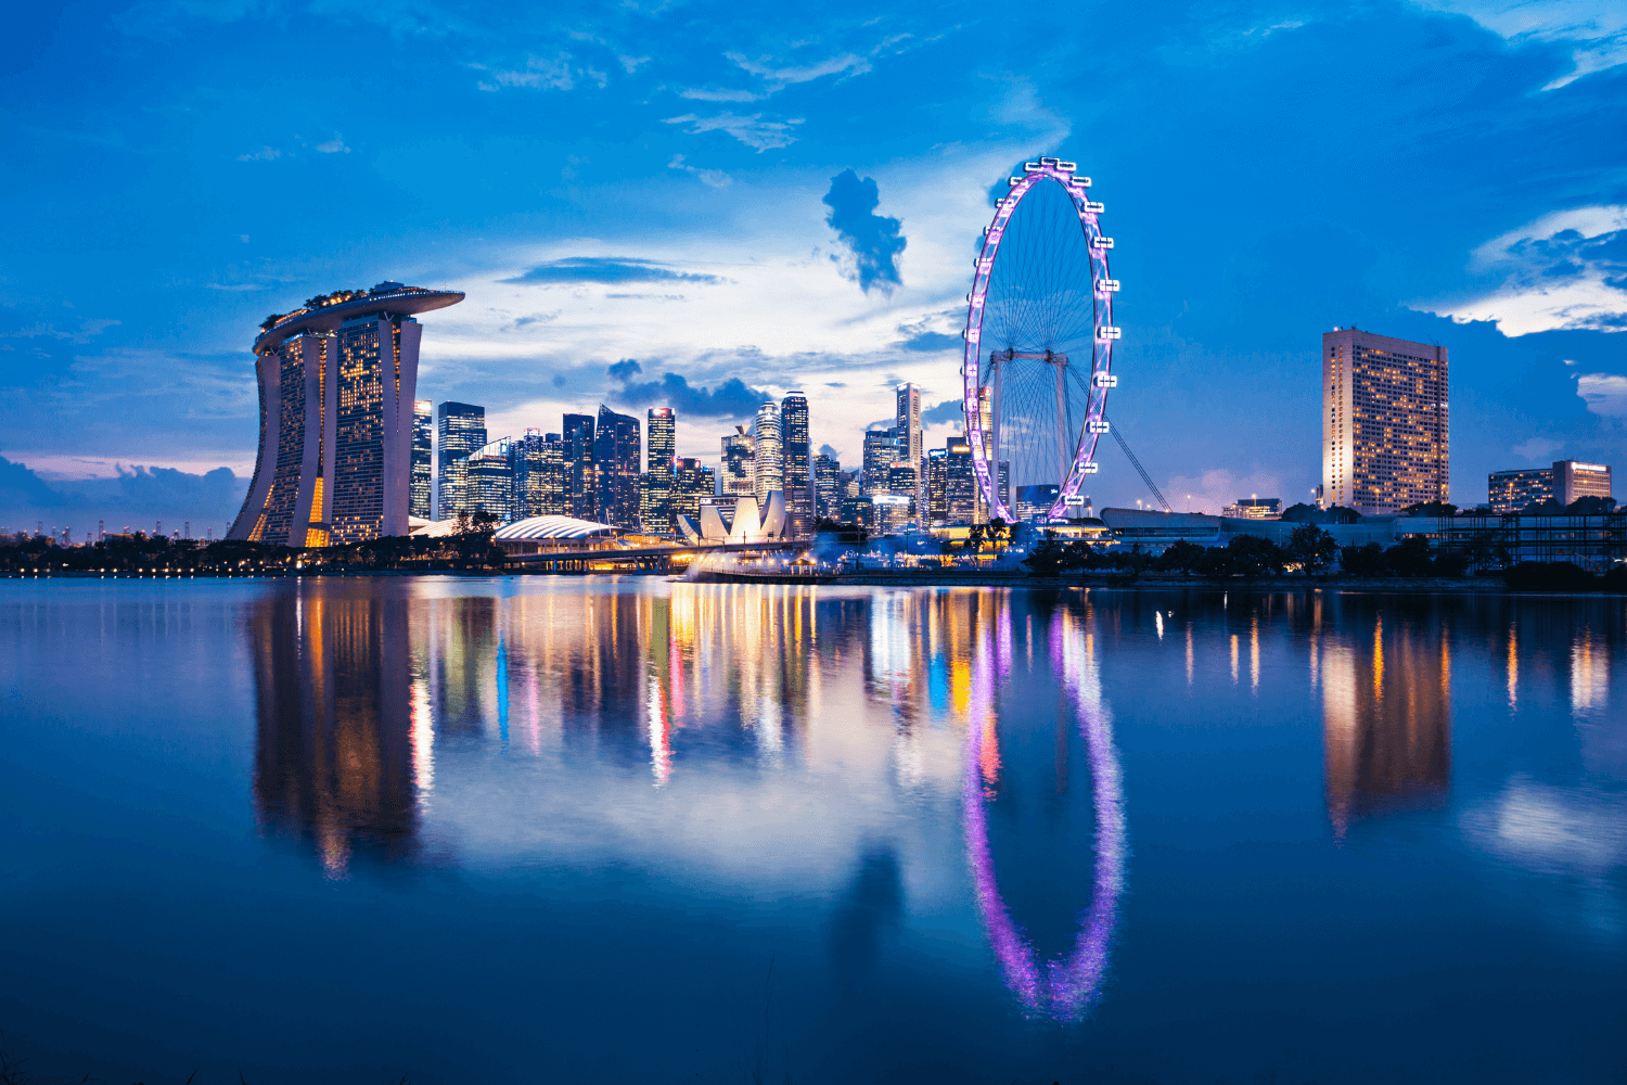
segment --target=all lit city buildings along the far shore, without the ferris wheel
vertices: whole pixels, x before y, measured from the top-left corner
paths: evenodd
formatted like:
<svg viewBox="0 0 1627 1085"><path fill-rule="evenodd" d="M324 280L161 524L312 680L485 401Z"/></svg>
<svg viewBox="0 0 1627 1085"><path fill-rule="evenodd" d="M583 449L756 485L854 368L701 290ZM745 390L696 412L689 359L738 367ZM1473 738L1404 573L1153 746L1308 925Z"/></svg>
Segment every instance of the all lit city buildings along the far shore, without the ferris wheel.
<svg viewBox="0 0 1627 1085"><path fill-rule="evenodd" d="M527 428L491 439L485 407L413 395L421 327L412 314L460 299L386 281L314 298L262 325L260 454L228 537L363 542L405 534L410 517L465 514L499 522L560 514L672 535L677 517L698 516L701 504L727 511L752 496L766 508L773 493L797 537L822 517L882 530L988 517L965 434L924 447L913 382L895 387L895 425L866 431L862 464L846 472L835 455L812 454L810 403L796 390L765 400L750 429L722 434L716 470L677 455L678 420L667 405L651 407L646 426L600 403L594 415L565 413L560 433ZM1373 516L1448 496L1446 348L1334 329L1323 335L1323 379L1321 504ZM988 395L978 426L988 441L996 426ZM1012 493L1009 467L997 470L999 493L1019 519L1041 519L1056 486ZM1577 460L1489 478L1497 511L1609 490L1607 465ZM1228 511L1279 514L1272 501L1240 498Z"/></svg>

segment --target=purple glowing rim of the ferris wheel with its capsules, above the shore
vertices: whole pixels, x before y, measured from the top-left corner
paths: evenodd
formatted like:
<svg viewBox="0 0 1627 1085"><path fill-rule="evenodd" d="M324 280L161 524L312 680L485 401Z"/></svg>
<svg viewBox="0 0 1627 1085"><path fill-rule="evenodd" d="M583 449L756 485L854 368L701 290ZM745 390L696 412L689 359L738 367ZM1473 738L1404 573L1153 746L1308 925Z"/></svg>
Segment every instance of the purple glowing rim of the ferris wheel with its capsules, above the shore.
<svg viewBox="0 0 1627 1085"><path fill-rule="evenodd" d="M989 280L994 273L994 260L999 255L1005 228L1022 205L1023 197L1046 181L1062 185L1079 215L1079 224L1085 233L1085 242L1090 251L1095 296L1095 304L1092 306L1088 408L1074 447L1074 459L1067 477L1062 480L1056 503L1049 511L1053 519L1064 516L1071 506L1084 504L1079 490L1085 483L1085 475L1095 473L1097 441L1108 431L1108 389L1116 382L1116 377L1111 376L1113 343L1119 338L1119 329L1113 324L1113 294L1118 293L1119 285L1108 272L1108 249L1113 247L1113 239L1101 233L1101 213L1105 208L1101 203L1088 198L1085 190L1090 187L1090 177L1079 176L1077 169L1075 163L1061 158L1041 158L1036 163L1025 163L1023 176L1010 177L1010 192L994 205L994 221L983 231L983 251L975 262L976 270L971 277L971 293L966 294L966 330L962 332L965 351L960 363L963 384L960 407L965 415L966 442L971 446L971 468L978 478L978 488L983 491L991 514L1005 521L1015 517L1001 499L999 486L996 485L997 465L991 464L989 449L983 442L983 386L979 382L983 366L983 314L988 303ZM1001 425L997 418L994 425Z"/></svg>

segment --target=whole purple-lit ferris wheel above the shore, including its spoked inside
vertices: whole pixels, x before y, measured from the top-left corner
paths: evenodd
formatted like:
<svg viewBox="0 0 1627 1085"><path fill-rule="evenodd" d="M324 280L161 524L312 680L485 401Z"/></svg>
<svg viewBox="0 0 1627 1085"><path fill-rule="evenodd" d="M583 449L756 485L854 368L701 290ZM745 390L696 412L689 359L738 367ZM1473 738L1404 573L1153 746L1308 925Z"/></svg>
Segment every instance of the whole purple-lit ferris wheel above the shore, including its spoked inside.
<svg viewBox="0 0 1627 1085"><path fill-rule="evenodd" d="M1053 517L1077 516L1108 431L1113 239L1074 163L1041 158L1010 179L984 231L971 293L962 408L989 514L1015 519L1019 486L1058 486ZM1004 485L1002 485L1004 483Z"/></svg>

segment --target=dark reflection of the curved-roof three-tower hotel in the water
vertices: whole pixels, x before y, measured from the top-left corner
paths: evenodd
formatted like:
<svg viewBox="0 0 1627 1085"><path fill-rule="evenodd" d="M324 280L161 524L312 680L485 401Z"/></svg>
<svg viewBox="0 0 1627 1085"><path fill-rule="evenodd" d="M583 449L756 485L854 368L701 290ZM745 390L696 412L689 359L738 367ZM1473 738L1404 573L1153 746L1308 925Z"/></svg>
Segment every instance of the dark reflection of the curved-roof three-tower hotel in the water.
<svg viewBox="0 0 1627 1085"><path fill-rule="evenodd" d="M334 877L418 846L407 604L280 594L249 615L259 708L254 805Z"/></svg>

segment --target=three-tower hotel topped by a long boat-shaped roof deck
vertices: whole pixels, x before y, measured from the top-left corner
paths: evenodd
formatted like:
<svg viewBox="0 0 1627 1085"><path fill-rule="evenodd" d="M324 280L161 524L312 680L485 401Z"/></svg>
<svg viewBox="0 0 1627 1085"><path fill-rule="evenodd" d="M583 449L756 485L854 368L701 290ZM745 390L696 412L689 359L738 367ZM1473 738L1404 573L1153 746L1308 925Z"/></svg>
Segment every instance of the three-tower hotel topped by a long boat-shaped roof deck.
<svg viewBox="0 0 1627 1085"><path fill-rule="evenodd" d="M229 538L304 547L407 534L423 337L413 314L462 299L379 283L260 325L260 449Z"/></svg>

